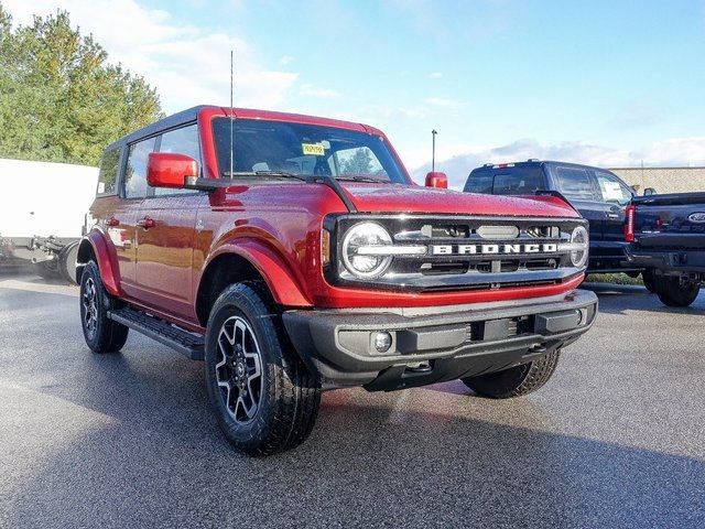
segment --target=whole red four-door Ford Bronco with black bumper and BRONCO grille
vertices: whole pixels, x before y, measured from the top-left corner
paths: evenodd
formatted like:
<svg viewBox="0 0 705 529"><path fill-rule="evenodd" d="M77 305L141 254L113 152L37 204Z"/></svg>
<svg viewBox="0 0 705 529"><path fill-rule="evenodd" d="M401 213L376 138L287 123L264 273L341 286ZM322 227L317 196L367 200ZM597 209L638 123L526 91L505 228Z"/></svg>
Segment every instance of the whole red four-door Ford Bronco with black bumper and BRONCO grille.
<svg viewBox="0 0 705 529"><path fill-rule="evenodd" d="M95 353L132 328L205 359L249 454L310 434L321 391L460 379L518 397L593 324L586 223L560 196L412 183L359 123L197 107L109 145L78 252Z"/></svg>

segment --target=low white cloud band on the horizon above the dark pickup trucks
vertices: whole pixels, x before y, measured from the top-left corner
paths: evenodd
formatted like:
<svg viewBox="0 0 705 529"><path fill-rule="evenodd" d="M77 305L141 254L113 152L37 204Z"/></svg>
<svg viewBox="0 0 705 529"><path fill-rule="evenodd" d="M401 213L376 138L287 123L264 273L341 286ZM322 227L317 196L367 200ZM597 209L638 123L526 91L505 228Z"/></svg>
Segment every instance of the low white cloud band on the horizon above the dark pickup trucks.
<svg viewBox="0 0 705 529"><path fill-rule="evenodd" d="M516 162L530 158L585 163L603 168L705 164L705 137L672 138L649 143L633 151L614 149L587 141L566 141L544 145L533 139L521 139L500 147L469 147L464 152L436 159L436 170L448 175L449 185L462 188L468 174L485 163ZM411 171L423 182L431 161Z"/></svg>

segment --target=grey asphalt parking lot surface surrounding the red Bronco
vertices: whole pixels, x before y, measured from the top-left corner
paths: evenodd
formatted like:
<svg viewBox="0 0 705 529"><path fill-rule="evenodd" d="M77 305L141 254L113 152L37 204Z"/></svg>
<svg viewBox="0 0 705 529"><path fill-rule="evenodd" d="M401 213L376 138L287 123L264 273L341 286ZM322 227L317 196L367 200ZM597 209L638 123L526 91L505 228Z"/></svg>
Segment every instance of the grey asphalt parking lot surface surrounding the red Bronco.
<svg viewBox="0 0 705 529"><path fill-rule="evenodd" d="M705 294L593 285L539 392L325 393L294 452L229 447L203 365L84 344L77 289L0 276L1 527L704 527Z"/></svg>

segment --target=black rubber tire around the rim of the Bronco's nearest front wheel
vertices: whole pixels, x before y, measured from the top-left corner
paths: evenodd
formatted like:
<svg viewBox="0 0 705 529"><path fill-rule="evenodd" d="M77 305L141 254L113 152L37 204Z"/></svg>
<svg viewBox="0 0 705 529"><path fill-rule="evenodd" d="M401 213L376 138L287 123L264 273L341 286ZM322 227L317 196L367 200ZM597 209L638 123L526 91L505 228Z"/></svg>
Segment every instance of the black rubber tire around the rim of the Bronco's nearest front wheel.
<svg viewBox="0 0 705 529"><path fill-rule="evenodd" d="M237 403L232 410L228 401L237 386L218 385L217 366L226 361L218 341L226 323L234 319L245 321L254 336L261 365L259 403L252 418L245 421L235 417ZM321 387L293 349L281 314L262 282L232 284L216 300L206 327L205 377L208 398L223 433L247 454L270 455L293 449L313 430Z"/></svg>

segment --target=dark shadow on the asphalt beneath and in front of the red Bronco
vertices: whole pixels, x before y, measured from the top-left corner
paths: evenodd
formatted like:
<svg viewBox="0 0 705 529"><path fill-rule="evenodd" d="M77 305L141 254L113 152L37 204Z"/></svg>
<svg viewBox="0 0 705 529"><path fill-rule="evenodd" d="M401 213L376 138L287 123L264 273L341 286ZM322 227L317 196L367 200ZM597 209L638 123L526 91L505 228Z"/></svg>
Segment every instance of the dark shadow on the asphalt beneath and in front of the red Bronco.
<svg viewBox="0 0 705 529"><path fill-rule="evenodd" d="M449 392L463 398L419 389L328 392L306 443L252 458L219 432L200 363L159 346L137 356L134 344L122 355L83 353L75 378L40 391L109 420L42 447L31 476L2 500L7 527L698 527L705 520L705 462L552 433L530 399L512 403L532 424L518 428L473 417L477 399L457 384ZM24 434L57 428L50 422Z"/></svg>

